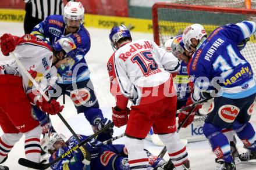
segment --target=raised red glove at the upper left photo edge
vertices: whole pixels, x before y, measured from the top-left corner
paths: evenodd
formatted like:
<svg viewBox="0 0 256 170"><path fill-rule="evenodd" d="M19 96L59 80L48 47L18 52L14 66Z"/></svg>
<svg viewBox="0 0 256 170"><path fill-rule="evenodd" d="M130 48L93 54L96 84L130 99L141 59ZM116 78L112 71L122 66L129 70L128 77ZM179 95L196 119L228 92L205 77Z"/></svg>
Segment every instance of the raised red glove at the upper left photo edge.
<svg viewBox="0 0 256 170"><path fill-rule="evenodd" d="M16 47L17 37L12 34L3 34L0 37L1 40L1 51L3 55L9 56L9 53L12 52Z"/></svg>

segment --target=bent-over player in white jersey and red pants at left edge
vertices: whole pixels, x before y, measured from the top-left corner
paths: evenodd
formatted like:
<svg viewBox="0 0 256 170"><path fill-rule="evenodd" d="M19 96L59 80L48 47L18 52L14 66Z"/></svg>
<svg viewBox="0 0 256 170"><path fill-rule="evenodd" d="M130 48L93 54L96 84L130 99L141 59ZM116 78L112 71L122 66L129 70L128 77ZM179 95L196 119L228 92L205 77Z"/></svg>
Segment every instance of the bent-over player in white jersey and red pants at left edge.
<svg viewBox="0 0 256 170"><path fill-rule="evenodd" d="M63 59L63 52L53 55L50 46L29 34L23 37L3 34L0 39L3 55L15 53L41 88L47 87L48 80L56 77L56 70L52 71L51 66ZM56 100L47 102L41 97L16 62L0 65L0 87L0 125L4 133L0 138L0 164L5 162L8 153L23 135L26 158L40 162L41 128L31 114L31 103L49 114L61 112L63 106Z"/></svg>

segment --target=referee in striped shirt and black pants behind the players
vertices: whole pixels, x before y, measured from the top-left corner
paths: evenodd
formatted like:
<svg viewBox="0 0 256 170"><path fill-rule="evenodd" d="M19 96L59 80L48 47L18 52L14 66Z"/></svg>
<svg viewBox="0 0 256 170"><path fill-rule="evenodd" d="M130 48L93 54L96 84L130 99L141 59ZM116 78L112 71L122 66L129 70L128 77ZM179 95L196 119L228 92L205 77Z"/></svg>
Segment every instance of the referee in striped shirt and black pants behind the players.
<svg viewBox="0 0 256 170"><path fill-rule="evenodd" d="M24 0L24 2L26 3L25 34L30 34L33 28L48 15L63 15L63 0Z"/></svg>

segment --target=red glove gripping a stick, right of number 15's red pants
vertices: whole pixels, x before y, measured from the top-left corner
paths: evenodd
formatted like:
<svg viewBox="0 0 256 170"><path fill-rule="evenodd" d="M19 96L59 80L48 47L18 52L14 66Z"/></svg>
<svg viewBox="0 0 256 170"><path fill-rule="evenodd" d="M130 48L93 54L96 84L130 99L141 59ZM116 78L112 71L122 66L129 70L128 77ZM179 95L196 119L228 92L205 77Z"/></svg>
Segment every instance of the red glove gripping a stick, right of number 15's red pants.
<svg viewBox="0 0 256 170"><path fill-rule="evenodd" d="M184 124L182 125L182 128L186 128L187 126L189 126L193 120L194 120L194 117L195 117L195 112L197 112L199 110L199 108L201 108L201 104L200 105L197 105L194 109L194 111L189 115L189 117L187 118L187 120L184 122ZM184 110L182 111L181 113L179 113L178 117L179 117L179 121L178 121L178 124L182 124L183 121L186 119L187 115L190 113L190 111L192 110L193 108L188 108L187 110Z"/></svg>

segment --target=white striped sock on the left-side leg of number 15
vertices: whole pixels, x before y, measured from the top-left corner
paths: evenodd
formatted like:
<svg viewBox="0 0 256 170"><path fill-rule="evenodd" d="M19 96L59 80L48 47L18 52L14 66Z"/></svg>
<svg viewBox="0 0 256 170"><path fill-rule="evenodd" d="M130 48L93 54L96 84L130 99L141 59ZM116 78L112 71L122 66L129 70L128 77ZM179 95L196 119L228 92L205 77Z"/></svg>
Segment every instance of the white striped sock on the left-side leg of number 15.
<svg viewBox="0 0 256 170"><path fill-rule="evenodd" d="M147 169L149 164L147 153L144 151L144 140L126 137L125 147L130 169Z"/></svg>

